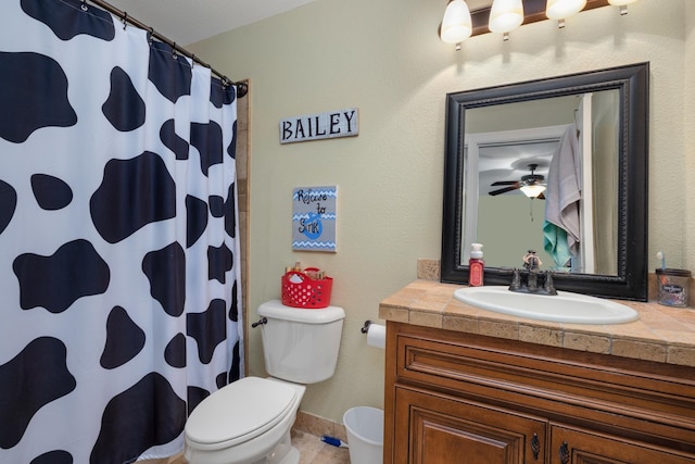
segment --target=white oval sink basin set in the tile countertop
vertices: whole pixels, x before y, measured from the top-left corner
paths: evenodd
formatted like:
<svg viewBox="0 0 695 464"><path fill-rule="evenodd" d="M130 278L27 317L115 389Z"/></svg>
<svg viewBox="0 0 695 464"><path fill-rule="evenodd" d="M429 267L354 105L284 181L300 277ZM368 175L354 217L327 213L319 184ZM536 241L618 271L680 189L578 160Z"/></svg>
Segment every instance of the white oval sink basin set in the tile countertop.
<svg viewBox="0 0 695 464"><path fill-rule="evenodd" d="M587 294L558 291L556 296L517 293L507 287L466 287L454 298L483 310L532 319L573 324L622 324L640 315L632 308Z"/></svg>

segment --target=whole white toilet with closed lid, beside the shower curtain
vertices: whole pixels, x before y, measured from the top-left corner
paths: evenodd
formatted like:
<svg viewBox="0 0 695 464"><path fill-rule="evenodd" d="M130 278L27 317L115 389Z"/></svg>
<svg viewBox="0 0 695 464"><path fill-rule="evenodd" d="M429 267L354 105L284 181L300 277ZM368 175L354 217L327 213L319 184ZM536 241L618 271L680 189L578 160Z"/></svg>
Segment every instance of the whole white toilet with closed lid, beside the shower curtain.
<svg viewBox="0 0 695 464"><path fill-rule="evenodd" d="M258 306L265 367L204 399L186 423L190 464L298 464L290 428L306 387L332 377L345 312L271 300ZM267 322L263 322L266 319Z"/></svg>

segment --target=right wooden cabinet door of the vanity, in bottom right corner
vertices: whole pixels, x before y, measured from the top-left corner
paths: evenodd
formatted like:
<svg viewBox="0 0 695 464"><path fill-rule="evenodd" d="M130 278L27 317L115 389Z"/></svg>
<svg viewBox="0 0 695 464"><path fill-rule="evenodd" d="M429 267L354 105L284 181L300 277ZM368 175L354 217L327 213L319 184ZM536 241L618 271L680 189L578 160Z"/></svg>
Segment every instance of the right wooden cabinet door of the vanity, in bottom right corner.
<svg viewBox="0 0 695 464"><path fill-rule="evenodd" d="M695 455L553 424L551 464L693 464Z"/></svg>

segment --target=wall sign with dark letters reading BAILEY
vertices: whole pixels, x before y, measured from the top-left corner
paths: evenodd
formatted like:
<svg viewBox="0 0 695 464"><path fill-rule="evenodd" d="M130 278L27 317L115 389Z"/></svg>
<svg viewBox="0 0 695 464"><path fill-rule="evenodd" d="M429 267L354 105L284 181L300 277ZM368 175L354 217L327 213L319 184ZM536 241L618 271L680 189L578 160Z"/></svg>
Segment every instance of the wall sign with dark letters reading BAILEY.
<svg viewBox="0 0 695 464"><path fill-rule="evenodd" d="M280 143L352 137L358 131L356 108L306 114L280 121Z"/></svg>

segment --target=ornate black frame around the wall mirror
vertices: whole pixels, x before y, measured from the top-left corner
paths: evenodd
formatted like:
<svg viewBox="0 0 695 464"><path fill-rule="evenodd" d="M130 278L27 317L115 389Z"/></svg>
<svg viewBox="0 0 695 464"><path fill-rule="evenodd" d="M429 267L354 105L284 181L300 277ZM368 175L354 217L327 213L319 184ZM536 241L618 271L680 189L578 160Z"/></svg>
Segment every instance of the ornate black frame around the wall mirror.
<svg viewBox="0 0 695 464"><path fill-rule="evenodd" d="M553 275L553 280L560 290L647 300L648 63L447 93L441 255L443 283L468 283L468 265L460 263L462 247L469 246L462 243L466 110L610 89L620 93L618 275L557 274ZM510 281L511 269L485 267L485 285L509 285Z"/></svg>

